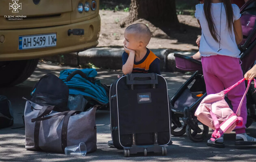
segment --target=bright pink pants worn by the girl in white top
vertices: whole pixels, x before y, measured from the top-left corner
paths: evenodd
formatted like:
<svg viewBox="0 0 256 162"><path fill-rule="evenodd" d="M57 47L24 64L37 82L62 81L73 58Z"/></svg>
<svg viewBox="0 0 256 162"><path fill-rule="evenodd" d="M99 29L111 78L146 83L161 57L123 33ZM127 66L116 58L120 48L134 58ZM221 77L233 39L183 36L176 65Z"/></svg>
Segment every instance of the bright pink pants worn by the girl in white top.
<svg viewBox="0 0 256 162"><path fill-rule="evenodd" d="M243 71L239 58L232 58L225 55L211 55L209 57L202 57L202 66L207 94L221 92L243 79ZM234 113L236 113L244 93L244 83L240 83L227 93ZM243 126L236 126L236 134L245 133L247 120L246 98L243 100L240 116L243 117Z"/></svg>

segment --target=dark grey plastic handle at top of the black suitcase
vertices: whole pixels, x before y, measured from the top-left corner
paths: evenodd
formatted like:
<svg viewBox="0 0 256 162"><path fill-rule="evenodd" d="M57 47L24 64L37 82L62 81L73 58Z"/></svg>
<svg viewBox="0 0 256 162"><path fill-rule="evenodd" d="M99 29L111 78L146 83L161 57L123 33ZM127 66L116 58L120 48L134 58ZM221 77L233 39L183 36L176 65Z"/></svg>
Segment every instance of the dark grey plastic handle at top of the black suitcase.
<svg viewBox="0 0 256 162"><path fill-rule="evenodd" d="M158 84L157 74L155 73L132 73L126 75L126 84Z"/></svg>

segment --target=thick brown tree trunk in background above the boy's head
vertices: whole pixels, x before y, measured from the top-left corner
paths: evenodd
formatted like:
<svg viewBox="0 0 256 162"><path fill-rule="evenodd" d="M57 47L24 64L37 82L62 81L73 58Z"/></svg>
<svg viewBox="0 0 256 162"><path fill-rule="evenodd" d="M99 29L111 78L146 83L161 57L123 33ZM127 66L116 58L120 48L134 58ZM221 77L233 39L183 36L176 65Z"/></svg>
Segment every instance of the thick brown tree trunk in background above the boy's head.
<svg viewBox="0 0 256 162"><path fill-rule="evenodd" d="M130 14L121 26L130 24L137 19L146 19L152 23L177 26L175 0L131 0Z"/></svg>

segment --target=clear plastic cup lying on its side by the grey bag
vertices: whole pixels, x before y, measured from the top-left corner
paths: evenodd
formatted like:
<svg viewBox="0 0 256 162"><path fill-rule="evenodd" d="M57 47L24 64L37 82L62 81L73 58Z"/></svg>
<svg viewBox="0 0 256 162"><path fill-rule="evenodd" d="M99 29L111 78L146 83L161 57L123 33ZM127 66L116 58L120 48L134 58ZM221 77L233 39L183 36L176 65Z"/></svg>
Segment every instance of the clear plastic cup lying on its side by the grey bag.
<svg viewBox="0 0 256 162"><path fill-rule="evenodd" d="M79 145L65 147L66 155L85 156L86 152L86 145L83 142L79 143Z"/></svg>

